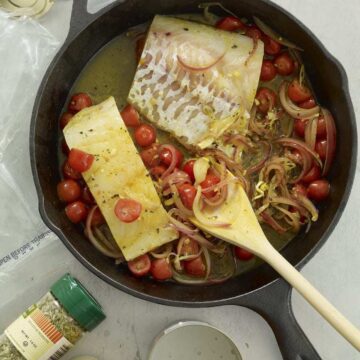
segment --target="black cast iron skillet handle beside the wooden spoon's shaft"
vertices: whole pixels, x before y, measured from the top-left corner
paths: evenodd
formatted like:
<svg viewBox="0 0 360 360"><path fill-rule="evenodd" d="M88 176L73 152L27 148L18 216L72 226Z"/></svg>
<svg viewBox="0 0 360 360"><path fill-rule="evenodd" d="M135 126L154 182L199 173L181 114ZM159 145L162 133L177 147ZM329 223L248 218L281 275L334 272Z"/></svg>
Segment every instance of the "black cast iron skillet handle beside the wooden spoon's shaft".
<svg viewBox="0 0 360 360"><path fill-rule="evenodd" d="M254 310L267 321L284 360L321 360L294 317L291 290L285 280L278 279L233 304Z"/></svg>

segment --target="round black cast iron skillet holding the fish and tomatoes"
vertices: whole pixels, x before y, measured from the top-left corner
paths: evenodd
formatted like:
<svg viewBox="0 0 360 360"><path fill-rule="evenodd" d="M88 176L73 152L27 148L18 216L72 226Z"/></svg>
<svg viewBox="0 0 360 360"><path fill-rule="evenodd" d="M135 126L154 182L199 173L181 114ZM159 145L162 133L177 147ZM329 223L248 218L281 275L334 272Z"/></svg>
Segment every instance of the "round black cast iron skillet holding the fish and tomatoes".
<svg viewBox="0 0 360 360"><path fill-rule="evenodd" d="M91 15L86 0L74 0L70 32L40 86L31 122L30 153L40 213L45 223L90 271L107 283L139 298L171 306L246 306L272 327L285 359L319 359L298 326L291 309L291 289L264 264L224 284L191 287L139 280L84 241L82 230L64 215L56 194L60 180L57 157L58 118L71 86L89 59L130 26L155 14L199 11L199 0L128 0ZM243 16L256 15L280 34L304 48L304 62L319 102L333 113L338 130L336 159L332 166L331 196L321 208L320 219L308 234L300 234L282 251L301 268L325 242L345 207L353 182L357 154L356 125L345 72L303 24L267 0L223 0ZM334 173L336 172L336 176Z"/></svg>

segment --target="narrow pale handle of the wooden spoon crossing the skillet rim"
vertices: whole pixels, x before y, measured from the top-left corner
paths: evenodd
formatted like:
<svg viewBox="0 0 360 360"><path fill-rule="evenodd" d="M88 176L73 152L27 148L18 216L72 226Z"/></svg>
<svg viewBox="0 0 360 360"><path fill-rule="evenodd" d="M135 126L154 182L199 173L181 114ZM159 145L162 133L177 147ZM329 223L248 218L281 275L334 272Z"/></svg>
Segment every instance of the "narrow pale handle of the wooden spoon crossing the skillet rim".
<svg viewBox="0 0 360 360"><path fill-rule="evenodd" d="M259 254L291 284L350 344L360 351L360 331L270 244Z"/></svg>

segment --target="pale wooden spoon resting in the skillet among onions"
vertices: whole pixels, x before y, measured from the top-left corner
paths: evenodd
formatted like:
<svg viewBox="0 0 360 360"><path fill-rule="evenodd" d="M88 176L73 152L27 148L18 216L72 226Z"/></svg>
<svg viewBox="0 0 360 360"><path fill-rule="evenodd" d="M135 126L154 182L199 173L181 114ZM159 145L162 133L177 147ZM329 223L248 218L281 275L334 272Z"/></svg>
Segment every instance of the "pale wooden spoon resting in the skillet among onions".
<svg viewBox="0 0 360 360"><path fill-rule="evenodd" d="M227 223L230 226L204 225L196 218L191 218L191 222L205 232L249 250L265 260L360 351L360 331L269 243L242 186L232 183L228 187L226 202L217 209L206 207L203 213L216 223Z"/></svg>

